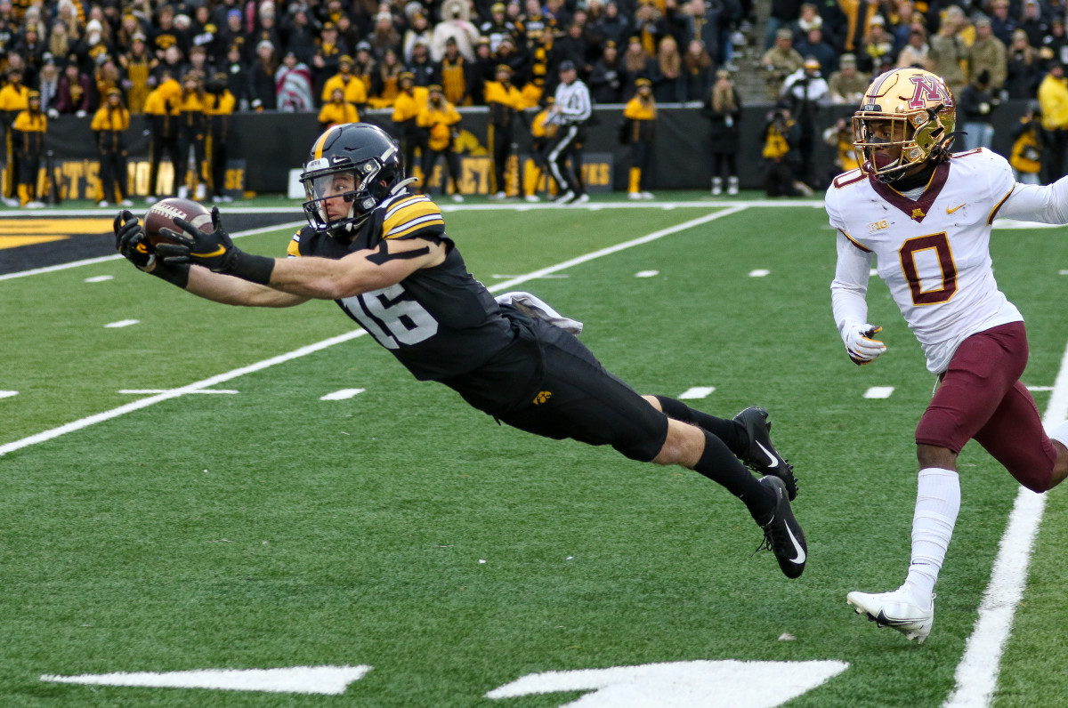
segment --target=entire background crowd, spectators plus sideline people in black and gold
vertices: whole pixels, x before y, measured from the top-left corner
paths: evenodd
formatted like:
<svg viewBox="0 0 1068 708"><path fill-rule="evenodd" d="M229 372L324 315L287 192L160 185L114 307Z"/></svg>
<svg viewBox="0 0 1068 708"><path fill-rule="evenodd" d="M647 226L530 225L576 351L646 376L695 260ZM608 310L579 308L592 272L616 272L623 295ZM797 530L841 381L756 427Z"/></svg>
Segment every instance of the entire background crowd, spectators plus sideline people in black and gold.
<svg viewBox="0 0 1068 708"><path fill-rule="evenodd" d="M958 150L991 146L999 107L1031 101L1014 167L1049 182L1068 148L1066 14L1068 0L0 0L0 117L31 146L34 115L92 120L116 153L130 115L153 119L154 133L176 117L197 133L178 145L185 157L205 133L224 145L220 116L233 113L315 112L327 126L387 109L427 157L428 133L456 135L450 109L488 106L501 127L502 107L504 120L544 110L560 66L574 65L595 105L640 101L619 132L634 160L649 162L637 153L649 152L658 104L708 119L713 194L737 192L742 104L766 105L763 144L743 154L763 156L769 194L803 194L855 167L844 116L871 78L916 66L953 91ZM428 96L440 115L420 115ZM157 137L153 150L168 147ZM828 153L833 164L814 162Z"/></svg>

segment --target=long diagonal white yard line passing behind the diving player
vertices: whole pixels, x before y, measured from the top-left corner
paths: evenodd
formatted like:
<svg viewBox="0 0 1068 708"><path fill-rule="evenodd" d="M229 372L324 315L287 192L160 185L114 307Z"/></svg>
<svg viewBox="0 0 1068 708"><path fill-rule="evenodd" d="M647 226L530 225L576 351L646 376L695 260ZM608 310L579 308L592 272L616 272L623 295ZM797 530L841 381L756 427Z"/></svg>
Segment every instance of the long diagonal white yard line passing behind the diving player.
<svg viewBox="0 0 1068 708"><path fill-rule="evenodd" d="M604 255L610 255L612 253L616 253L618 251L632 248L634 246L642 246L643 243L654 241L658 238L663 238L664 236L670 236L671 234L675 234L680 231L686 231L687 229L700 226L703 223L714 221L716 219L720 219L731 214L736 214L744 208L745 208L744 206L736 206L728 209L724 209L722 211L714 211L712 214L707 214L697 219L684 221L680 224L669 226L668 229L661 229L660 231L655 231L651 234L646 234L645 236L640 236L629 241L624 241L623 243L616 243L615 246L610 246L608 248L600 249L599 251L593 251L592 253L580 255L576 258L564 261L563 263L557 263L556 265L549 266L548 268L541 268L540 270L535 270L533 272L527 273L525 276L519 276L518 278L513 278L511 280L497 283L496 285L487 289L489 289L489 292L491 293L497 290L504 290L514 287L520 283L525 283L527 281L540 278L541 276L555 272L557 270L570 268L571 266L576 266L578 264L585 263L587 261L593 261L594 258L599 258ZM278 229L278 226L272 226L272 229ZM117 258L122 256L116 255L109 257ZM0 457L6 455L7 453L15 452L16 450L21 450L22 447L29 447L30 445L37 444L38 442L46 442L48 440L53 440L56 438L59 438L60 436L66 435L67 432L81 430L82 428L95 425L96 423L110 421L113 418L119 418L120 415L125 415L126 413L131 413L136 410L147 408L148 406L153 406L163 400L177 398L187 393L193 393L201 389L207 389L218 383L230 381L231 379L235 379L239 376L245 376L246 374L252 374L253 372L258 372L264 368L273 366L276 364L281 364L287 361L292 361L293 359L299 359L300 357L314 353L316 351L320 351L328 347L332 347L335 344L341 344L343 342L348 342L349 340L355 340L358 336L363 336L366 333L367 333L366 330L363 329L354 330L345 334L330 337L329 340L324 340L315 344L309 344L308 346L300 347L299 349L294 349L293 351L289 351L287 353L279 355L277 357L271 357L270 359L265 359L254 364L249 364L248 366L241 366L240 368L235 368L233 371L226 372L225 374L217 374L216 376L213 376L210 378L206 378L201 381L197 381L194 383L189 383L178 389L171 389L170 391L164 391L163 393L159 393L154 396L148 396L147 398L141 398L139 400L125 404L123 406L120 406L119 408L112 408L111 410L104 411L101 413L94 413L93 415L89 415L87 418L73 421L70 423L64 423L63 425L52 428L50 430L45 430L44 432L37 432L27 438L22 438L21 440L15 440L14 442L9 442L0 445Z"/></svg>

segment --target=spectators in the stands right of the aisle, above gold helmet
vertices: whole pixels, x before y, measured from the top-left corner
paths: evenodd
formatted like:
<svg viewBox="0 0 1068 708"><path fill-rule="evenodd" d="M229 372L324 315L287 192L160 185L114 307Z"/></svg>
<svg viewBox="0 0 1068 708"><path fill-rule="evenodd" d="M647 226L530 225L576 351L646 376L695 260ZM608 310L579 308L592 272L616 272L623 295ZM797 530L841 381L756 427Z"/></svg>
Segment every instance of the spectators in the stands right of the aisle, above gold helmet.
<svg viewBox="0 0 1068 708"><path fill-rule="evenodd" d="M832 84L839 70L860 74L855 86L916 66L957 97L985 77L995 99L1035 98L1050 66L1068 62L1066 14L1065 0L772 0L760 60L768 98L810 59ZM830 98L853 104L858 95L832 85Z"/></svg>

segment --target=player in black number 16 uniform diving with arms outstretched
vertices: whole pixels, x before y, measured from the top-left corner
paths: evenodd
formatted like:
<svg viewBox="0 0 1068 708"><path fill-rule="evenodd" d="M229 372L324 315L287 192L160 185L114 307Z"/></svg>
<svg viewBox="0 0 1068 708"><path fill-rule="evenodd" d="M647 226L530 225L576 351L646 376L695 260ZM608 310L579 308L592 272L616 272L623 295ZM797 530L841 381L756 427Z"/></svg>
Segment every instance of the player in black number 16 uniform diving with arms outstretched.
<svg viewBox="0 0 1068 708"><path fill-rule="evenodd" d="M561 327L499 304L467 272L440 209L407 191L396 143L380 128L329 128L301 182L309 226L293 238L289 258L238 250L218 209L214 233L177 222L192 237L156 252L123 211L116 245L139 268L217 302L335 300L418 379L444 383L504 423L696 470L741 499L783 572L801 575L807 551L790 510L794 474L771 444L767 411L747 408L723 420L674 398L643 398ZM767 476L754 477L739 458Z"/></svg>

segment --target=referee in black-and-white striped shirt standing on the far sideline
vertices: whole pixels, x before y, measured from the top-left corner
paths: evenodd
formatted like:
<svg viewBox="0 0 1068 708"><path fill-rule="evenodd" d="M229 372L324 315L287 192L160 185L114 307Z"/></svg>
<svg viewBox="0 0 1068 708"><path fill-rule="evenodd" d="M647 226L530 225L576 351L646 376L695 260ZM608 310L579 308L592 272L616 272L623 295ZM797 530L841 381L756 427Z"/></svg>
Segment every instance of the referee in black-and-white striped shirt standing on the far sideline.
<svg viewBox="0 0 1068 708"><path fill-rule="evenodd" d="M582 185L582 144L586 139L583 126L593 114L590 89L579 79L575 62L560 63L560 85L556 86L553 112L547 122L560 126L549 147L547 161L556 182L556 204L582 204L590 194ZM570 161L570 168L568 168Z"/></svg>

